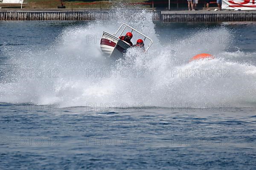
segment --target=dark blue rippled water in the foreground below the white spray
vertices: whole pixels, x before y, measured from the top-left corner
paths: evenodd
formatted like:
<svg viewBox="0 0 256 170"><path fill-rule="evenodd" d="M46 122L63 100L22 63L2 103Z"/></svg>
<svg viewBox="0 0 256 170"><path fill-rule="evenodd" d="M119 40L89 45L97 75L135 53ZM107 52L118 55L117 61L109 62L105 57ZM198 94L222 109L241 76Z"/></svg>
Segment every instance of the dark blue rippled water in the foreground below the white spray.
<svg viewBox="0 0 256 170"><path fill-rule="evenodd" d="M251 169L256 109L2 112L3 169ZM31 107L32 109L34 107Z"/></svg>

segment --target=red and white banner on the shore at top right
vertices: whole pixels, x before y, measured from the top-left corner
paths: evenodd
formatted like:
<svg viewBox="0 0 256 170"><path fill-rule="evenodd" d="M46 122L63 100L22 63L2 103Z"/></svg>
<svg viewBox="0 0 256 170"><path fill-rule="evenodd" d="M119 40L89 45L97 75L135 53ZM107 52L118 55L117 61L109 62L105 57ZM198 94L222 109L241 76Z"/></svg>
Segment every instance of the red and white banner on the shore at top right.
<svg viewBox="0 0 256 170"><path fill-rule="evenodd" d="M222 0L222 9L256 10L256 0Z"/></svg>

